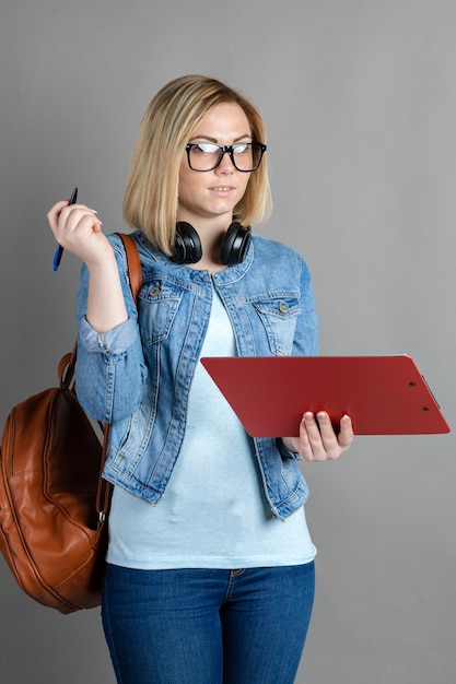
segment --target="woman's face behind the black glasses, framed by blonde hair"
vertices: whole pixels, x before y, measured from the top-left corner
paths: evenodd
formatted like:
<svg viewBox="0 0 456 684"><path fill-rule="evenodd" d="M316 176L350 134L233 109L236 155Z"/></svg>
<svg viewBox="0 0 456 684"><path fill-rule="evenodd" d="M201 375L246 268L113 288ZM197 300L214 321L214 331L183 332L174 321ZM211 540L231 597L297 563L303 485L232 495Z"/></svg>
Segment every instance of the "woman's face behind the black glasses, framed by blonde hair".
<svg viewBox="0 0 456 684"><path fill-rule="evenodd" d="M252 132L244 110L235 103L217 105L195 129L188 142L215 142L232 145L250 142ZM225 154L220 165L210 172L195 172L184 152L179 175L178 221L195 227L222 226L233 220L233 209L246 190L249 173L237 170Z"/></svg>

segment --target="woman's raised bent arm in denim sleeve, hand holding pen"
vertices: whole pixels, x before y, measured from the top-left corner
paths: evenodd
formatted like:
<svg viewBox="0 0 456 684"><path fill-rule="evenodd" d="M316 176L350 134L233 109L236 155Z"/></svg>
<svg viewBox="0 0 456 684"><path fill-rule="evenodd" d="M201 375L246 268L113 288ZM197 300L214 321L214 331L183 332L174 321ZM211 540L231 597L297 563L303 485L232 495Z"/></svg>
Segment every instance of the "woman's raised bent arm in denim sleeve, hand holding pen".
<svg viewBox="0 0 456 684"><path fill-rule="evenodd" d="M78 397L93 418L112 423L131 415L147 369L138 314L120 240L101 232L93 210L58 202L48 213L58 243L84 266L78 295Z"/></svg>

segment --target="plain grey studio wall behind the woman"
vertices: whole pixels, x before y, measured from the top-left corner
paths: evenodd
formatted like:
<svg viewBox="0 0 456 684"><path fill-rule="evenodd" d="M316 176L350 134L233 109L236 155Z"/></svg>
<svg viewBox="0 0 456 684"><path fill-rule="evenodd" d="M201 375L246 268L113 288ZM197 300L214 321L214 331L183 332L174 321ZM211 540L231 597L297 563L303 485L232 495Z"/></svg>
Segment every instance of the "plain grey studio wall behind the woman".
<svg viewBox="0 0 456 684"><path fill-rule="evenodd" d="M455 35L454 0L1 0L1 423L74 339L79 264L52 272L47 209L79 185L122 229L147 104L202 72L265 115L257 231L306 258L321 352L411 354L455 427ZM455 681L455 456L453 433L359 437L304 467L319 554L299 683ZM0 576L2 683L114 682L97 610L61 616Z"/></svg>

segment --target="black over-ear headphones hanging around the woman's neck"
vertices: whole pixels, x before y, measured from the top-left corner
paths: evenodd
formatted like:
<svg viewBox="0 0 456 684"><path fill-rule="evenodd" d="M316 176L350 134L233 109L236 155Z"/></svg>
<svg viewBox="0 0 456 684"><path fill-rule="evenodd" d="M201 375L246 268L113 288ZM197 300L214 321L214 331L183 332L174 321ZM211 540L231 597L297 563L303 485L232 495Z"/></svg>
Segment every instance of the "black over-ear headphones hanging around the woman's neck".
<svg viewBox="0 0 456 684"><path fill-rule="evenodd" d="M244 228L238 221L233 221L223 238L220 261L224 266L241 263L250 241L250 226ZM176 241L172 260L176 263L196 263L202 257L201 240L192 225L186 221L176 223Z"/></svg>

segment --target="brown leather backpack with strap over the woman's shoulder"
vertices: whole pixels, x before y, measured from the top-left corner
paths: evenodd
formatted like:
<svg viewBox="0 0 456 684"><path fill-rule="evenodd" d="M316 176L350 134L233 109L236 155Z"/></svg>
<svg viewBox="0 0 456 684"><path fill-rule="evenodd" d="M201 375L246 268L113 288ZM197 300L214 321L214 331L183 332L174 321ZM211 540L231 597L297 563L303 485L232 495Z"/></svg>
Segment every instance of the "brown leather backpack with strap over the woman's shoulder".
<svg viewBox="0 0 456 684"><path fill-rule="evenodd" d="M136 297L138 251L120 237ZM101 603L112 488L101 476L108 426L102 446L75 396L75 357L60 361L58 387L12 409L0 450L0 551L20 587L63 614Z"/></svg>

